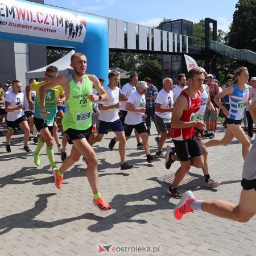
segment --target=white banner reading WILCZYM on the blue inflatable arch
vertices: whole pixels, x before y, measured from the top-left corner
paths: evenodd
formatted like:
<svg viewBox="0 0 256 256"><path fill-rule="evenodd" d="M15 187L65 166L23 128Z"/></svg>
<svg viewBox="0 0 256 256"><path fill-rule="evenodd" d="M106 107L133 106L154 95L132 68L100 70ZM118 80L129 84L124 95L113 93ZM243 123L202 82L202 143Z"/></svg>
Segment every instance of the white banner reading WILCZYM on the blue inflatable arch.
<svg viewBox="0 0 256 256"><path fill-rule="evenodd" d="M84 42L84 16L14 0L0 0L0 32Z"/></svg>

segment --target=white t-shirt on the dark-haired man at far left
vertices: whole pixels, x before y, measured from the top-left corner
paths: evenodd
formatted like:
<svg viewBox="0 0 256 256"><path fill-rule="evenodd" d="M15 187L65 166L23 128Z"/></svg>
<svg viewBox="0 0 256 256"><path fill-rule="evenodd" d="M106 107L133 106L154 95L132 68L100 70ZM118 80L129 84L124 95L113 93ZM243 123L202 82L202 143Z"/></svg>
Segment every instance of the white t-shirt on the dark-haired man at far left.
<svg viewBox="0 0 256 256"><path fill-rule="evenodd" d="M9 92L6 95L5 98L6 102L11 102L11 104L9 105L10 107L15 107L19 104L23 104L24 101L24 94L18 93L18 94L14 94L13 92ZM22 109L17 109L14 110L13 112L7 112L7 120L8 121L15 121L16 119L22 117L22 115L24 115L24 112Z"/></svg>

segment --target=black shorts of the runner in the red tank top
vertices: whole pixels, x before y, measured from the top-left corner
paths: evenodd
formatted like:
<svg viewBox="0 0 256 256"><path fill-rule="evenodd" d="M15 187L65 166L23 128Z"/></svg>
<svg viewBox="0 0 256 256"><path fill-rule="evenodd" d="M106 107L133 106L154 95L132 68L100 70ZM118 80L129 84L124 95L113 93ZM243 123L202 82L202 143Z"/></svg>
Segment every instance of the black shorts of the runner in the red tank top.
<svg viewBox="0 0 256 256"><path fill-rule="evenodd" d="M203 155L203 150L195 135L185 139L185 141L176 141L175 139L172 139L172 141L174 142L177 158L181 162L186 162L191 158Z"/></svg>

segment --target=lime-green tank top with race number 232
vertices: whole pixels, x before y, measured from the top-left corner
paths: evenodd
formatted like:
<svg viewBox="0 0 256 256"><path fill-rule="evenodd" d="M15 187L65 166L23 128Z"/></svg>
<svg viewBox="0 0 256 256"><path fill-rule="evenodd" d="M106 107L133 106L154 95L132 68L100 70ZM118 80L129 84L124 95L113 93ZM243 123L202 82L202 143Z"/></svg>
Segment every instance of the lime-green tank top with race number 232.
<svg viewBox="0 0 256 256"><path fill-rule="evenodd" d="M87 76L84 76L84 82L77 85L72 77L69 79L70 93L65 101L65 114L62 119L63 130L69 128L75 130L86 130L92 126L92 101L87 97L92 93L92 82Z"/></svg>

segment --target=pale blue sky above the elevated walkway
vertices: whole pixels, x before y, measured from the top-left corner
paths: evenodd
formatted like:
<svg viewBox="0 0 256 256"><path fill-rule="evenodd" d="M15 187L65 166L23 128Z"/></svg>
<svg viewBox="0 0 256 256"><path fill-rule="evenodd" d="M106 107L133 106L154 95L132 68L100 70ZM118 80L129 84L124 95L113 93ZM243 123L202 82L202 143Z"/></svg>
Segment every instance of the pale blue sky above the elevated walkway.
<svg viewBox="0 0 256 256"><path fill-rule="evenodd" d="M166 19L217 20L217 29L229 31L238 0L44 0L48 5L156 27Z"/></svg>

